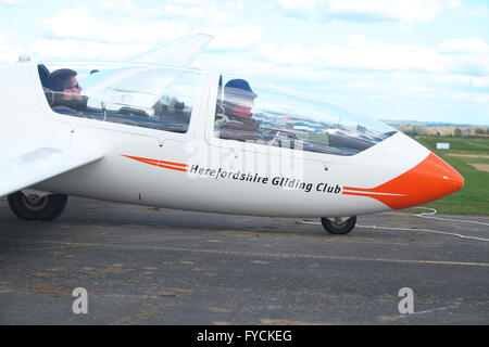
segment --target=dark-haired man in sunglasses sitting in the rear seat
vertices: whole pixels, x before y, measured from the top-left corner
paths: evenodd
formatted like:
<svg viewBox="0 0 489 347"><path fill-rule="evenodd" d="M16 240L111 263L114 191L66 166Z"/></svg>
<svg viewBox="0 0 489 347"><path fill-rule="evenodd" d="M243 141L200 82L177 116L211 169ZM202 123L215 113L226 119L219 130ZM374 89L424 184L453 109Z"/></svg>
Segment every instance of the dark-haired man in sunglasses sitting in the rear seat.
<svg viewBox="0 0 489 347"><path fill-rule="evenodd" d="M54 91L51 107L63 114L77 114L87 111L87 97L82 95L83 88L76 79L77 73L70 68L60 68L51 73L48 87Z"/></svg>

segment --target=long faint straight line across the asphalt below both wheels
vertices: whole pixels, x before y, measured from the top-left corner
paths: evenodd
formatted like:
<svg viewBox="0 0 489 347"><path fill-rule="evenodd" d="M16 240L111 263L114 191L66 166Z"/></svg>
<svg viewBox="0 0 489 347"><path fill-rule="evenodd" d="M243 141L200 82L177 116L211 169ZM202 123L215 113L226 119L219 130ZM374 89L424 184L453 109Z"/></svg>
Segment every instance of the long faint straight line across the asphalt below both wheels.
<svg viewBox="0 0 489 347"><path fill-rule="evenodd" d="M23 241L23 240L17 240ZM34 240L29 240L34 242ZM416 260L416 259L385 259L385 258L364 258L364 257L337 257L309 254L280 254L280 253L244 253L236 250L218 250L218 249L197 249L184 247L158 247L158 246L123 246L108 245L97 243L78 243L66 241L47 241L38 240L39 243L62 244L82 247L110 247L124 249L150 249L150 250L170 250L170 252L187 252L187 253L204 253L216 255L246 256L246 257L265 257L265 258L285 258L285 259L321 259L321 260L350 260L350 261L379 261L379 262L399 262L399 264L421 264L421 265L441 265L441 266L469 266L469 267L489 267L487 262L464 262L464 261L444 261L444 260Z"/></svg>

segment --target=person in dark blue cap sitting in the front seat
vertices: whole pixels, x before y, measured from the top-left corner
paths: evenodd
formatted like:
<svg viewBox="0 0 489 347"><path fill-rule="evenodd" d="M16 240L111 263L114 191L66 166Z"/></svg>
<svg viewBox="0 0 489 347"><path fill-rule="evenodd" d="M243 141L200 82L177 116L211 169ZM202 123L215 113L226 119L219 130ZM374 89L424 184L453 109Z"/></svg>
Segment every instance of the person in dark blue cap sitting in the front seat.
<svg viewBox="0 0 489 347"><path fill-rule="evenodd" d="M260 126L251 113L256 97L244 79L229 80L224 86L223 106L230 121L223 124L221 129L260 132Z"/></svg>

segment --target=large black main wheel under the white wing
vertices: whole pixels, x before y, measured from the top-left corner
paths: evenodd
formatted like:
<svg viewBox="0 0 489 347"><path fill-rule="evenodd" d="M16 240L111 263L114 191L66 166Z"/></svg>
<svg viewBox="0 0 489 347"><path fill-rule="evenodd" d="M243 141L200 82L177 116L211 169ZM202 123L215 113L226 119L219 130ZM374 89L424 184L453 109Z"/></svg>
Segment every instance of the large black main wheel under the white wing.
<svg viewBox="0 0 489 347"><path fill-rule="evenodd" d="M24 220L53 220L63 213L67 203L67 195L64 194L51 194L41 198L30 197L16 192L10 194L7 200L15 216Z"/></svg>

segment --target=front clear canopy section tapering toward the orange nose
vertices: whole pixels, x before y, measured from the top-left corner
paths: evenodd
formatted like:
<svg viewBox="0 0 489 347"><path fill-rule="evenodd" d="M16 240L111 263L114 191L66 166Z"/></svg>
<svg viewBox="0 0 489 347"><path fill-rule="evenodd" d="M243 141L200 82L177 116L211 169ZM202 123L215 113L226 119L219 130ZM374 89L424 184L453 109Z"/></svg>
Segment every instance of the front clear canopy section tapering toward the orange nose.
<svg viewBox="0 0 489 347"><path fill-rule="evenodd" d="M354 155L396 129L299 93L223 76L214 124L221 139Z"/></svg>

